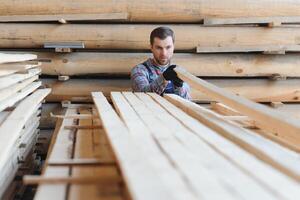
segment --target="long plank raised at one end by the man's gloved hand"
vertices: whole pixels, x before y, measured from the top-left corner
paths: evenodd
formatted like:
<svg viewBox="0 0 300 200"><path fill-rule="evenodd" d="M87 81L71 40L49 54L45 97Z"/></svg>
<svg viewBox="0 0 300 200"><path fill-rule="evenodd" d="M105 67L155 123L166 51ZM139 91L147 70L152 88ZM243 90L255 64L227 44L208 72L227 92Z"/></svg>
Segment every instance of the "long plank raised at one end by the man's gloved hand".
<svg viewBox="0 0 300 200"><path fill-rule="evenodd" d="M258 127L276 133L280 137L287 138L290 141L294 141L296 145L300 144L300 125L294 118L246 98L234 95L231 92L222 90L213 84L189 74L182 68L175 70L180 78L188 82L195 89L232 107L241 114L255 119L258 122Z"/></svg>

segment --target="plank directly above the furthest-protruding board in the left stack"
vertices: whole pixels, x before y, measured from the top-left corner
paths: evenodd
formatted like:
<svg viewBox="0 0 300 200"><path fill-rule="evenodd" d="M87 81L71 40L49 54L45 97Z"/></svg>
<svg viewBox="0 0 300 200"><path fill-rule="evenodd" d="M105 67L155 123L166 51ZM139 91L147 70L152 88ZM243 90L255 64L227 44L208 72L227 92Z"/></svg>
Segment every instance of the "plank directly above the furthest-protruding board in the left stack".
<svg viewBox="0 0 300 200"><path fill-rule="evenodd" d="M21 92L18 92L14 95L11 95L9 98L4 99L0 102L0 111L3 111L8 107L13 106L15 103L25 98L30 93L34 92L40 86L41 82L33 82L30 85L26 86L24 89L22 89Z"/></svg>

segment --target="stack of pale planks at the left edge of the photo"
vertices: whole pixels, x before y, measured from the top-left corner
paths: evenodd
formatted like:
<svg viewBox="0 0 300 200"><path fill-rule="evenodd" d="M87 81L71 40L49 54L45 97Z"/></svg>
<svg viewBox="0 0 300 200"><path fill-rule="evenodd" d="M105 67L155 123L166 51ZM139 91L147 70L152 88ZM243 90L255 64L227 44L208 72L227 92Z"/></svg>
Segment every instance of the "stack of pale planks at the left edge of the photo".
<svg viewBox="0 0 300 200"><path fill-rule="evenodd" d="M40 108L50 93L50 89L38 89L40 64L31 61L36 58L33 54L0 54L1 199L16 198L22 182L13 180L36 168Z"/></svg>

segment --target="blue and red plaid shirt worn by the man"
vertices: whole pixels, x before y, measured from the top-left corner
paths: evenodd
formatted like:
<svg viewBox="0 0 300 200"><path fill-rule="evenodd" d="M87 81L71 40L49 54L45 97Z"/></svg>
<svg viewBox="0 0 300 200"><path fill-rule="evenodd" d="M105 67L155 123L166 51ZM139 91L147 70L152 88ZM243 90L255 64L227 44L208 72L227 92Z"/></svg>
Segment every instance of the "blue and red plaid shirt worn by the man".
<svg viewBox="0 0 300 200"><path fill-rule="evenodd" d="M146 66L148 66L148 69ZM169 65L168 65L169 66ZM155 92L162 95L170 81L165 81L162 73L167 67L155 66L152 59L149 58L144 63L136 65L131 70L131 84L135 92ZM174 94L185 99L191 99L190 87L187 83L183 83L182 87L173 88Z"/></svg>

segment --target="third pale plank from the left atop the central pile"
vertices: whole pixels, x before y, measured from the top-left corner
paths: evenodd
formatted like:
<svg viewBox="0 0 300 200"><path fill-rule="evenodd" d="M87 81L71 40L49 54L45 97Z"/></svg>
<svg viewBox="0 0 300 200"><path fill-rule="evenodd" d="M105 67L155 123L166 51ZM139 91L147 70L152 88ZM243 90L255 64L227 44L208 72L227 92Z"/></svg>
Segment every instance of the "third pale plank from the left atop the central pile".
<svg viewBox="0 0 300 200"><path fill-rule="evenodd" d="M219 199L221 196L225 199L237 198L236 193L230 193L227 190L228 187L223 187L223 183L217 176L204 167L202 161L196 159L181 141L178 141L175 137L177 132L172 131L169 126L156 117L156 113L146 107L148 102L144 103L130 92L124 92L123 95L198 197L204 199Z"/></svg>

